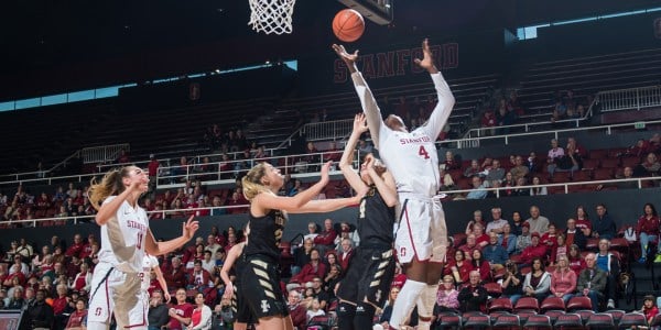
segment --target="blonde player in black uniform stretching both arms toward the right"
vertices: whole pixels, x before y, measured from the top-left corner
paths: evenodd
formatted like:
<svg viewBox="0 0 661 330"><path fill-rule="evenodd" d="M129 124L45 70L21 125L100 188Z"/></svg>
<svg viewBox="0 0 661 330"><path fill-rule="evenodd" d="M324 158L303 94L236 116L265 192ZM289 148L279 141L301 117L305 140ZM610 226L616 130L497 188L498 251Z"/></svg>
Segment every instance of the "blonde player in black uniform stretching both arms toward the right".
<svg viewBox="0 0 661 330"><path fill-rule="evenodd" d="M357 190L356 197L312 200L328 183L330 162L322 167L321 179L312 187L293 197L278 196L284 184L280 169L268 163L260 163L241 179L243 195L250 201L250 234L243 249L246 267L241 274L243 295L250 297L248 305L259 319L261 329L293 329L289 309L280 288L278 264L286 212L328 212L356 205L367 193Z"/></svg>

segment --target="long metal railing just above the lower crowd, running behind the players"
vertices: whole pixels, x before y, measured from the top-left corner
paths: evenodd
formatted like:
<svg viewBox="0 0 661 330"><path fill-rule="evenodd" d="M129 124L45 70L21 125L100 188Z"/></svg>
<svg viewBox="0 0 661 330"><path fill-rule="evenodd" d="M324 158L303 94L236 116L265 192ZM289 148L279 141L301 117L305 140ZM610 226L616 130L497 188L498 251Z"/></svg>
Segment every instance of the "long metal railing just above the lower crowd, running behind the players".
<svg viewBox="0 0 661 330"><path fill-rule="evenodd" d="M610 186L617 186L617 184L621 184L621 183L637 183L638 184L638 189L643 188L643 182L660 182L661 177L640 177L640 178L630 178L630 179L609 179L609 180L592 180L592 182L574 182L574 183L563 183L563 184L546 184L546 185L538 185L538 186L520 186L520 187L499 187L499 188L485 188L486 190L490 190L490 191L496 191L496 198L500 198L501 191L503 190L511 190L513 188L522 188L522 189L530 189L530 188L538 188L538 187L546 187L546 188L552 188L552 187L563 187L563 191L564 194L571 194L573 186L582 186L582 185L594 185L594 186L603 186L604 189L608 189L608 187ZM463 195L465 193L469 193L473 191L474 189L462 189L462 190L448 190L448 191L441 191L442 194L447 195L447 197L452 198L453 195ZM557 194L557 193L556 193ZM551 193L549 193L549 195L552 195ZM455 196L456 197L456 196ZM319 195L319 199L324 199L324 196ZM462 198L464 199L464 198ZM220 216L220 215L227 215L227 213L231 213L228 212L227 210L231 210L231 209L243 209L248 207L248 205L235 205L235 206L223 206L223 207L204 207L204 208L186 208L186 209L167 209L167 210L153 210L153 211L148 211L148 215L159 215L160 217L158 217L158 219L167 219L167 218L172 218L172 216L177 216L174 218L178 218L181 217L182 219L189 217L191 215L196 215L196 216ZM201 212L204 211L204 212ZM183 215L183 216L182 216ZM76 224L79 222L93 222L94 221L94 217L95 216L80 216L80 217L62 217L62 218L41 218L41 219L25 219L25 220L7 220L7 221L0 221L1 226L9 226L9 227L13 227L14 224L26 224L26 226L31 226L31 227L36 227L36 223L39 222L51 222L51 223L55 223L55 226L61 226L61 224ZM153 218L150 218L152 220L154 220ZM48 226L53 226L53 224L48 224Z"/></svg>

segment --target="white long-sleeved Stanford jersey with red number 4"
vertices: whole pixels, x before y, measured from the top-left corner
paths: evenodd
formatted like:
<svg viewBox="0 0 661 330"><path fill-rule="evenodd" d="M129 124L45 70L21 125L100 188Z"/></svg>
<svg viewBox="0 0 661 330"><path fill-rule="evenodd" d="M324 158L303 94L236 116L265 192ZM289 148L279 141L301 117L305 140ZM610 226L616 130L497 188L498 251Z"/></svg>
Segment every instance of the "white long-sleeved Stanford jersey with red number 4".
<svg viewBox="0 0 661 330"><path fill-rule="evenodd" d="M381 110L362 75L358 72L351 74L375 146L379 150L379 157L392 173L398 193L431 197L438 191L438 152L434 142L447 123L455 99L441 73L431 76L438 103L422 127L412 132L401 132L393 131L383 123Z"/></svg>

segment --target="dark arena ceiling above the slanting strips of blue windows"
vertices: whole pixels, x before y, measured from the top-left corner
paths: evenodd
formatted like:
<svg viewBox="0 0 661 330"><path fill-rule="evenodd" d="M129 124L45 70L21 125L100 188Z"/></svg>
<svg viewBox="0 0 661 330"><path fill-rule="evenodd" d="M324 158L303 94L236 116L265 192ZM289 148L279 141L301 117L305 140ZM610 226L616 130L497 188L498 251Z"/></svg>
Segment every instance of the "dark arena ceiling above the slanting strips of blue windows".
<svg viewBox="0 0 661 330"><path fill-rule="evenodd" d="M394 0L379 37L517 26L652 0ZM335 0L297 0L294 33L257 34L247 0L7 0L0 4L0 101L192 72L313 56L334 42Z"/></svg>

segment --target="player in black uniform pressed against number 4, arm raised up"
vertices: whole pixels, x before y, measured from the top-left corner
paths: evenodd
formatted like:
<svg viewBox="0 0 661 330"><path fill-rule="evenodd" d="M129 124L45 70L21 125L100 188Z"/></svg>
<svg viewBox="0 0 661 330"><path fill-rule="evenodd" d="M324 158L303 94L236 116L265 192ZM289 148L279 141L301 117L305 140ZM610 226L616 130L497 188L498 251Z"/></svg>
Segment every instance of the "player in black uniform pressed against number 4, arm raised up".
<svg viewBox="0 0 661 330"><path fill-rule="evenodd" d="M365 156L360 175L351 166L354 150L366 131L365 114L356 114L354 131L339 161L339 168L349 185L356 190L368 189L358 212L360 245L337 289L340 330L371 329L375 311L388 298L394 276L394 178L372 154Z"/></svg>

